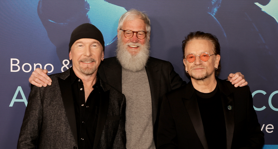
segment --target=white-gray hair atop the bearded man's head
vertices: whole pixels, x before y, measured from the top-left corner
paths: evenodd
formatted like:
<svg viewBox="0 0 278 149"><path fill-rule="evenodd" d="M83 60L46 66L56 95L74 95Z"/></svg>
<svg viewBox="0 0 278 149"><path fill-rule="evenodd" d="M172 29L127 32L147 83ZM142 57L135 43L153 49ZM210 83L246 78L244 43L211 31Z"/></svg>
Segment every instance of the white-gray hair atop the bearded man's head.
<svg viewBox="0 0 278 149"><path fill-rule="evenodd" d="M146 24L146 29L147 29L146 32L148 32L147 37L149 38L150 37L150 19L145 12L141 12L136 9L130 9L129 11L127 11L123 15L121 15L121 17L119 19L118 30L120 30L123 27L123 22L131 21L131 20L134 20L137 18L140 18Z"/></svg>

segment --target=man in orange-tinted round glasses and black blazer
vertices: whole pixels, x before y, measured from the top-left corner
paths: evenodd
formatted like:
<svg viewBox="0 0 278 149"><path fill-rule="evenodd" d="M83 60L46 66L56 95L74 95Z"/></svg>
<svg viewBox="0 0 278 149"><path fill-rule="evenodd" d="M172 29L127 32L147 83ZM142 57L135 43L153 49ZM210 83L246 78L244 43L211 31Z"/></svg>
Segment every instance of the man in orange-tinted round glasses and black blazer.
<svg viewBox="0 0 278 149"><path fill-rule="evenodd" d="M262 148L264 133L249 87L216 77L221 69L216 36L190 32L183 58L191 81L163 97L158 148Z"/></svg>

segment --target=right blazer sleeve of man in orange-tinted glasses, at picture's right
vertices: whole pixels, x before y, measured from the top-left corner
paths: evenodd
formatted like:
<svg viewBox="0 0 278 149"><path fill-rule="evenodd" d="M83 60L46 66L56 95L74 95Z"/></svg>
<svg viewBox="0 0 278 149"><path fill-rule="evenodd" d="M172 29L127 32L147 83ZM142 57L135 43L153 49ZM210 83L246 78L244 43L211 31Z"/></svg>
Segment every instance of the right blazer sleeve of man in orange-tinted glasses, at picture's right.
<svg viewBox="0 0 278 149"><path fill-rule="evenodd" d="M261 131L258 122L256 111L253 107L252 94L248 87L248 107L247 107L247 122L248 122L248 146L244 148L261 149L264 145L264 133Z"/></svg>

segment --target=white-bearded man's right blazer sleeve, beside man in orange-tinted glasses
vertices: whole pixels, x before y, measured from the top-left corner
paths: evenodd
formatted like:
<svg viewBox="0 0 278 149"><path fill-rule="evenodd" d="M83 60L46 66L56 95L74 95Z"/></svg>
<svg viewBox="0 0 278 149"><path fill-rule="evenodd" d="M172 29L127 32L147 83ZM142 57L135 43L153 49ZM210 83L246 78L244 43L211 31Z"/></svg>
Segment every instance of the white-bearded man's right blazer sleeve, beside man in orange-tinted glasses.
<svg viewBox="0 0 278 149"><path fill-rule="evenodd" d="M177 89L186 84L186 82L181 79L179 74L177 74L174 71L174 67L170 62L168 62L168 73L172 90Z"/></svg>

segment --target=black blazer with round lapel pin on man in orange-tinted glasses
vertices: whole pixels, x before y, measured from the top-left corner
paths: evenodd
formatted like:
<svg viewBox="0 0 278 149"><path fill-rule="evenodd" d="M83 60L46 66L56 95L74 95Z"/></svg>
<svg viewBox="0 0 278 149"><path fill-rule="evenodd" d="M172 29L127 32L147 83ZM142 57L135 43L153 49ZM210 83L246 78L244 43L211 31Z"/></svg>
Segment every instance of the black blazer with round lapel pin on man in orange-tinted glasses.
<svg viewBox="0 0 278 149"><path fill-rule="evenodd" d="M248 86L234 87L216 78L226 122L227 148L262 148L257 114ZM229 110L228 106L232 106ZM199 106L192 82L163 97L157 146L161 148L208 149Z"/></svg>

